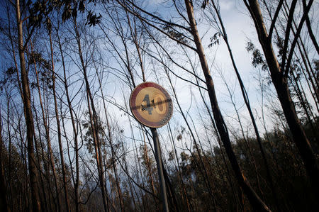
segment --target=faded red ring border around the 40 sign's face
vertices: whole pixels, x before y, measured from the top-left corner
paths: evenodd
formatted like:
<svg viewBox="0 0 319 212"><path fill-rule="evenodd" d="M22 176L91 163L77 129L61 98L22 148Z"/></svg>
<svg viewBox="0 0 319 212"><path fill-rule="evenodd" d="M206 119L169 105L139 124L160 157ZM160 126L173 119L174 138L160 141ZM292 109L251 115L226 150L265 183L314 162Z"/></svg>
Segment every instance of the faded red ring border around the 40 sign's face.
<svg viewBox="0 0 319 212"><path fill-rule="evenodd" d="M168 101L169 106L167 107L167 115L165 116L165 118L163 118L163 121L165 119L167 119L167 121L164 121L164 123L148 121L145 118L142 118L142 116L140 116L140 113L136 112L137 111L136 108L138 107L135 105L136 96L138 96L138 93L142 89L145 89L147 87L154 87L155 89L159 89L159 91L162 91L165 97L169 100ZM132 93L130 94L130 111L133 113L133 116L143 125L147 125L150 128L160 128L163 125L167 124L169 119L172 117L172 114L173 114L172 99L167 93L167 91L163 87L161 87L159 84L156 84L154 82L143 82L139 84L137 87L135 87L135 89L133 89Z"/></svg>

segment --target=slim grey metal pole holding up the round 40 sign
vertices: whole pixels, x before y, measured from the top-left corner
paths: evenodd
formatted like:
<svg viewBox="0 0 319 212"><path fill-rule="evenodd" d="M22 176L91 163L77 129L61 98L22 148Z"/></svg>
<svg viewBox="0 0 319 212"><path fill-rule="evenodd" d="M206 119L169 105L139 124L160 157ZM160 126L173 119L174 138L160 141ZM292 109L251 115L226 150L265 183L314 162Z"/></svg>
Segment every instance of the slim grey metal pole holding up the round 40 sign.
<svg viewBox="0 0 319 212"><path fill-rule="evenodd" d="M166 195L166 186L165 186L164 174L163 174L162 156L161 156L161 151L159 149L159 140L158 140L157 130L156 130L156 128L150 128L150 129L152 131L153 141L154 141L155 159L156 159L156 163L157 163L159 185L161 187L163 211L169 212L168 203L167 203L167 195Z"/></svg>

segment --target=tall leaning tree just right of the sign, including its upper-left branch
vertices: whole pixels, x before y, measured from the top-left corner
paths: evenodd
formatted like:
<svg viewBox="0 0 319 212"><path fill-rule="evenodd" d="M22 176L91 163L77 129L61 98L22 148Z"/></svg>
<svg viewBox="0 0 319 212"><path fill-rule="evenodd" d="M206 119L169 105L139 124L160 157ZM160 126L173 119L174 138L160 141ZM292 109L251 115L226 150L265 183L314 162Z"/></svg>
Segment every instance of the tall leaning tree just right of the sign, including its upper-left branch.
<svg viewBox="0 0 319 212"><path fill-rule="evenodd" d="M194 50L197 53L201 63L201 69L205 77L205 83L208 96L211 101L211 109L213 110L216 127L218 129L218 133L220 134L220 138L223 142L230 163L232 164L237 182L242 187L243 191L250 200L250 203L252 203L252 206L261 211L269 211L267 205L259 198L258 194L254 191L252 186L250 186L249 182L245 178L233 152L230 136L228 134L228 128L218 106L211 70L208 67L205 51L201 43L201 36L198 33L196 18L194 16L193 2L186 0L184 2L184 6L181 6L181 2L173 1L172 4L177 9L177 13L180 17L179 22L173 22L172 20L166 21L164 18L157 16L155 13L151 13L145 9L142 9L140 6L135 4L134 1L118 1L118 4L121 4L121 6L123 6L123 8L125 8L127 11L133 13L135 16L138 16L142 23L152 26L152 28L155 28L155 30L167 35L168 38L176 41L180 45L186 46L190 50Z"/></svg>

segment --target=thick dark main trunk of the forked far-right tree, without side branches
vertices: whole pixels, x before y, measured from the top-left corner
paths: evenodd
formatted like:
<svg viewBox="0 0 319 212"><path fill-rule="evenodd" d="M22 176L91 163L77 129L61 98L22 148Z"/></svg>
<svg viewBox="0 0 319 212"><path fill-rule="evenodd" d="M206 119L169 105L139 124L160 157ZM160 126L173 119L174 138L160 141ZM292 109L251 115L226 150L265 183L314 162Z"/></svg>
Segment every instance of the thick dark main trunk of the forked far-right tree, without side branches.
<svg viewBox="0 0 319 212"><path fill-rule="evenodd" d="M310 177L310 182L313 184L313 191L315 194L318 194L319 191L319 170L318 170L318 160L310 146L309 140L306 137L306 133L301 126L301 122L296 114L296 108L293 105L291 95L289 92L288 82L286 78L286 73L284 69L279 67L278 60L274 54L272 48L272 38L267 34L266 27L264 25L264 20L262 17L262 12L258 1L250 0L250 5L246 3L247 9L249 9L250 14L254 20L254 25L257 30L259 43L262 45L264 55L267 60L269 71L271 73L272 82L278 94L281 107L283 108L286 121L291 130L293 136L293 141L296 143L296 146L301 154L301 158L305 163L308 176ZM287 23L289 24L289 23ZM289 64L287 64L289 65ZM282 67L284 67L282 65Z"/></svg>

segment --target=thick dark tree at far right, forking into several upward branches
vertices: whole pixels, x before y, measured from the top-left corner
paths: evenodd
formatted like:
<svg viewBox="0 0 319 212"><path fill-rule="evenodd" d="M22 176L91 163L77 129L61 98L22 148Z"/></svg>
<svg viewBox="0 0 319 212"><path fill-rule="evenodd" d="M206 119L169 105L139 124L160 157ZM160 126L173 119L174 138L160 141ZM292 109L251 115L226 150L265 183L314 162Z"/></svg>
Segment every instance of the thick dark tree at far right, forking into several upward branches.
<svg viewBox="0 0 319 212"><path fill-rule="evenodd" d="M293 24L293 16L296 12L296 4L298 1L291 1L289 8L289 17L286 22L286 30L284 37L284 45L281 52L281 61L279 63L279 58L276 56L274 46L273 46L273 34L276 26L276 21L279 19L284 0L279 1L278 6L272 16L272 21L270 23L269 29L267 29L266 23L264 22L264 16L259 5L259 1L246 1L244 3L250 12L252 20L254 21L254 26L257 31L258 39L260 45L262 45L262 50L264 52L264 57L267 62L270 76L272 77L272 83L276 89L281 107L284 111L284 116L286 122L289 125L291 134L293 136L293 141L296 143L296 147L300 152L300 155L305 164L308 176L310 177L310 182L313 184L313 190L315 194L318 194L318 178L319 178L319 167L318 167L318 157L313 152L313 149L309 143L305 131L301 125L301 121L297 116L296 107L291 99L291 92L289 91L288 77L291 72L291 62L293 60L293 52L296 48L297 40L300 36L303 24L305 23L308 13L313 5L313 1L303 2L303 14L296 28L296 34L291 36L291 29ZM289 46L289 43L291 45Z"/></svg>

